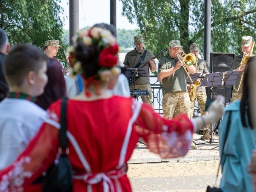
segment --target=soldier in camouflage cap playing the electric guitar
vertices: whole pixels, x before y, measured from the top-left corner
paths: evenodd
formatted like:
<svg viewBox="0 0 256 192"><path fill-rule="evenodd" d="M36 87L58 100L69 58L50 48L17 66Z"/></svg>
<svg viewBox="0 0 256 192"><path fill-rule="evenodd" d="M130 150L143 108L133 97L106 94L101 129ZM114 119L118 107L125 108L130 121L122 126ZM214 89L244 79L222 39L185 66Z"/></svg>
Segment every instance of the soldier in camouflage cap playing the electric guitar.
<svg viewBox="0 0 256 192"><path fill-rule="evenodd" d="M137 35L137 36L134 36L133 39L134 39L135 48L134 50L128 52L125 55L124 68L134 68L138 63L140 63L142 59L142 55L145 51L145 48L143 47L144 41L142 36ZM136 78L135 87L134 87L134 89L137 89L137 90L148 90L149 95L141 96L141 100L145 103L148 103L149 105L152 105L152 91L151 91L151 85L149 82L149 69L152 72L156 71L156 64L152 58L153 58L152 52L147 51L142 64L145 64L146 62L149 61L149 65L146 66L146 68L148 68L148 76ZM130 85L130 89L132 89L131 85Z"/></svg>

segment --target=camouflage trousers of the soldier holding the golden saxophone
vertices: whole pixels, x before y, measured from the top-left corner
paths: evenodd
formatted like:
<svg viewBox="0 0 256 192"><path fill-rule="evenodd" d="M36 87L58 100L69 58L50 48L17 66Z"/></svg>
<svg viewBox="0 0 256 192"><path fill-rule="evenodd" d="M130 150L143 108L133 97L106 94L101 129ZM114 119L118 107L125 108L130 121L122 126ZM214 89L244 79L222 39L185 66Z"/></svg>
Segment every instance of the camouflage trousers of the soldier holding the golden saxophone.
<svg viewBox="0 0 256 192"><path fill-rule="evenodd" d="M204 115L205 114L204 109L205 109L205 104L206 104L206 100L207 100L206 91L196 92L196 99L197 99L197 102L198 102L200 113L201 113L201 115ZM195 101L196 100L190 101L190 118L193 118L193 116L194 116Z"/></svg>

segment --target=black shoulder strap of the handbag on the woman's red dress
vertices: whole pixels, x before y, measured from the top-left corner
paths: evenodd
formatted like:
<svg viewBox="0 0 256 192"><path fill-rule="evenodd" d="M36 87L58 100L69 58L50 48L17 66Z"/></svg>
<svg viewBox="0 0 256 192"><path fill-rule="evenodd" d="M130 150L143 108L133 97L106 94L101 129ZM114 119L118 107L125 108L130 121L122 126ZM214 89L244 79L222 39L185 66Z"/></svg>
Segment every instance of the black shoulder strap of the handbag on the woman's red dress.
<svg viewBox="0 0 256 192"><path fill-rule="evenodd" d="M69 149L68 149L68 138L67 138L67 122L66 122L66 110L67 110L67 102L68 102L68 98L67 97L63 97L62 101L61 101L61 109L60 109L60 149L59 149L59 153L61 150L60 154L63 154L63 149L66 152L69 153ZM65 154L65 153L64 153Z"/></svg>

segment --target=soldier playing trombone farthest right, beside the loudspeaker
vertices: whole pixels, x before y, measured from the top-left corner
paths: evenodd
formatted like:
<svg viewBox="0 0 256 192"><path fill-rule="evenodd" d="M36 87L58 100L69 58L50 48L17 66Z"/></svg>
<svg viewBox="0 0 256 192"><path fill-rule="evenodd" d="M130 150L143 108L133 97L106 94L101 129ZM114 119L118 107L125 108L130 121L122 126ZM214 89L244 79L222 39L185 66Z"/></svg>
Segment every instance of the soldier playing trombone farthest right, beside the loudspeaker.
<svg viewBox="0 0 256 192"><path fill-rule="evenodd" d="M248 56L251 49L252 49L252 37L251 36L243 36L242 41L241 41L241 48L242 48L242 53L238 56L236 56L231 64L230 71L239 71L238 78L237 78L237 83L235 86L233 86L233 91L232 91L232 97L231 97L231 102L234 102L235 100L239 100L242 98L242 84L243 84L243 79L241 82L241 77L244 73L244 65L242 65L240 68L240 64L244 56ZM241 82L241 85L239 87L239 84ZM238 89L239 87L239 89Z"/></svg>

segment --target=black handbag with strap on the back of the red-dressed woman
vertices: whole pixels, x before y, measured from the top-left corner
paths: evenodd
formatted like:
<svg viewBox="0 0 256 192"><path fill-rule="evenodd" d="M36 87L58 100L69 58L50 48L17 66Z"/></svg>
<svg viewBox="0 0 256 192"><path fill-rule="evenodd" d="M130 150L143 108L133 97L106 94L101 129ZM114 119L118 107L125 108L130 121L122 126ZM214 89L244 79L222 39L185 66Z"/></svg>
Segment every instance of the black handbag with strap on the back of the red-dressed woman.
<svg viewBox="0 0 256 192"><path fill-rule="evenodd" d="M42 185L43 192L72 192L73 190L72 168L68 159L69 148L66 136L67 100L65 97L61 102L59 163L53 163L47 170Z"/></svg>

